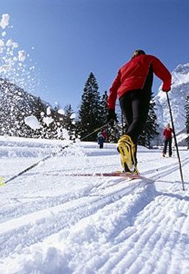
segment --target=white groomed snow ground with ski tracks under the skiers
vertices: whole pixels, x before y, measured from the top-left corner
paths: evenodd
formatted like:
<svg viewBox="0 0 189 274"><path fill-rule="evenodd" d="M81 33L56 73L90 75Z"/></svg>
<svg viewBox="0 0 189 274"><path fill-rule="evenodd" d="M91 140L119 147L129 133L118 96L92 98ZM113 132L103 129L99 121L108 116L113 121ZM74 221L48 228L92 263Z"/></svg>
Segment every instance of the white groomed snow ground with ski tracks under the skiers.
<svg viewBox="0 0 189 274"><path fill-rule="evenodd" d="M67 143L0 137L0 175ZM0 273L189 273L189 159L179 153L185 191L175 151L162 149L139 147L146 180L73 176L120 170L115 144L79 140L1 186Z"/></svg>

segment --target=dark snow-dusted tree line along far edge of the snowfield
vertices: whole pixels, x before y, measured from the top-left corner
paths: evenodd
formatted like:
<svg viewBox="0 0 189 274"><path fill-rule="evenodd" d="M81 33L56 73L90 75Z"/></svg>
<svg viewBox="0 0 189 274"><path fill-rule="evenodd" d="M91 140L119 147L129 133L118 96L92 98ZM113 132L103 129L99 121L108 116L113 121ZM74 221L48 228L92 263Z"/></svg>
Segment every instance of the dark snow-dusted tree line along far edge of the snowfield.
<svg viewBox="0 0 189 274"><path fill-rule="evenodd" d="M40 97L30 95L8 80L1 78L0 97L0 135L63 139L66 130L70 139L81 138L81 140L96 141L98 129L103 127L108 136L108 142L117 142L126 129L119 105L116 107L118 123L115 123L113 127L107 124L108 95L106 90L100 95L98 82L93 73L89 73L85 82L77 116L74 115L71 104L66 105L60 111L59 105L52 107ZM189 96L186 99L185 108L186 131L189 134ZM40 122L40 129L34 130L25 124L25 116L31 114ZM158 137L158 127L156 103L154 96L151 95L149 114L139 138L139 145L151 148L154 145L154 139ZM187 141L189 146L189 138Z"/></svg>

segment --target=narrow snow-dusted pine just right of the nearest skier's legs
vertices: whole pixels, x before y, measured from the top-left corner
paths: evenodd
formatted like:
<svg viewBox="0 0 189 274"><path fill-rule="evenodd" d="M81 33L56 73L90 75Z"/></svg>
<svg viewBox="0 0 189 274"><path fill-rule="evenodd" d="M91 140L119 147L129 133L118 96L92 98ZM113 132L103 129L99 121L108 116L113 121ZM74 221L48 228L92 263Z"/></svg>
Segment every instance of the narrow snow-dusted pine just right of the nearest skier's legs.
<svg viewBox="0 0 189 274"><path fill-rule="evenodd" d="M147 121L141 136L139 137L139 145L151 148L151 140L154 140L158 136L158 123L156 116L156 103L153 95L151 95L151 101L149 103L149 112L147 115Z"/></svg>

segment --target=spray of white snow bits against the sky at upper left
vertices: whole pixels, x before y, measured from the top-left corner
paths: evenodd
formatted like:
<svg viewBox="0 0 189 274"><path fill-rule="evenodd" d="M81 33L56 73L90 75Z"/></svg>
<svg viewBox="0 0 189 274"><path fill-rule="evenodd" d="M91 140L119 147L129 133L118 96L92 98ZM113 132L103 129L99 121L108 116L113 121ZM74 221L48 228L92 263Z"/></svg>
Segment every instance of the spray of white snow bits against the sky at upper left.
<svg viewBox="0 0 189 274"><path fill-rule="evenodd" d="M36 92L40 84L39 69L33 66L32 55L22 49L12 37L10 15L0 18L0 74L25 91ZM32 69L31 69L32 68ZM0 92L1 93L1 92Z"/></svg>

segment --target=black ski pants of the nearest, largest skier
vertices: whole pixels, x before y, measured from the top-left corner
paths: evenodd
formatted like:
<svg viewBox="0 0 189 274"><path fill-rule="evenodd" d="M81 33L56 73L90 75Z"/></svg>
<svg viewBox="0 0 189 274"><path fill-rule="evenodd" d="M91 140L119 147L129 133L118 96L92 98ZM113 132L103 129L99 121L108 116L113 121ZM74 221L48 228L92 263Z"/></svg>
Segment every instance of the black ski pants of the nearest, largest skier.
<svg viewBox="0 0 189 274"><path fill-rule="evenodd" d="M132 138L136 151L138 138L141 132L143 132L143 128L147 120L150 99L151 90L144 89L129 90L119 99L121 111L126 121L125 134L129 135Z"/></svg>

